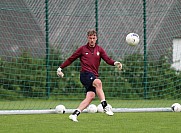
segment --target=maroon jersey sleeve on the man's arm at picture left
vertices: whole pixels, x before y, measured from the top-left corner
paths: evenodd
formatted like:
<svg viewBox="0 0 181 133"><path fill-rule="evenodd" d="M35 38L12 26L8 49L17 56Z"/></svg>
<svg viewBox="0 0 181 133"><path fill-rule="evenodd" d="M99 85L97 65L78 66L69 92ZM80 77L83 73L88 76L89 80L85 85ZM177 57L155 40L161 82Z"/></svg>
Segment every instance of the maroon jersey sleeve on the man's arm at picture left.
<svg viewBox="0 0 181 133"><path fill-rule="evenodd" d="M82 47L78 48L64 63L60 65L60 68L65 68L74 62L77 58L81 56Z"/></svg>

